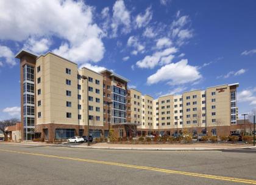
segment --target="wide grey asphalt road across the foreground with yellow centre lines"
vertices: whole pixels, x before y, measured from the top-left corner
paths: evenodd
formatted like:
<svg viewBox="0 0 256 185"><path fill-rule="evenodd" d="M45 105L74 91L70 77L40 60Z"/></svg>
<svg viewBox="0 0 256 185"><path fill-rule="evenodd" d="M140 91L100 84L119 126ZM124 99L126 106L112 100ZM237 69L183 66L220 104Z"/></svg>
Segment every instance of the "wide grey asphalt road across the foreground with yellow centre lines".
<svg viewBox="0 0 256 185"><path fill-rule="evenodd" d="M0 144L0 184L256 184L256 150L248 150L171 152Z"/></svg>

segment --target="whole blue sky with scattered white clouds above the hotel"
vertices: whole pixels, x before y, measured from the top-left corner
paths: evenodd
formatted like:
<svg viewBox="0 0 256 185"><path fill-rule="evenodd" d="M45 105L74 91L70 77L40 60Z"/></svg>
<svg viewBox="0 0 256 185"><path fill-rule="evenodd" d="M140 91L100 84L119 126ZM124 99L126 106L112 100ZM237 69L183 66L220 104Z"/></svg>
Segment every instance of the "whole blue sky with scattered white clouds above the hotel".
<svg viewBox="0 0 256 185"><path fill-rule="evenodd" d="M240 83L256 108L255 1L0 1L0 120L20 115L21 49L107 68L157 98Z"/></svg>

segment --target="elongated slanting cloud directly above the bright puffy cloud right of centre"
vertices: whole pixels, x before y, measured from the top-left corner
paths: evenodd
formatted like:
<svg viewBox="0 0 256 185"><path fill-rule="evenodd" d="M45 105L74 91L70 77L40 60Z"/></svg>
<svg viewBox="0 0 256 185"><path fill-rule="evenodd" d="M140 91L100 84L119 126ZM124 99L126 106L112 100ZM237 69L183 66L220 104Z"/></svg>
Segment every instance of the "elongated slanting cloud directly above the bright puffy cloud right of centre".
<svg viewBox="0 0 256 185"><path fill-rule="evenodd" d="M155 52L153 55L147 55L144 59L137 61L136 65L140 68L153 69L158 64L167 64L174 58L173 53L176 53L177 49L175 47L170 47L163 50L162 52Z"/></svg>

